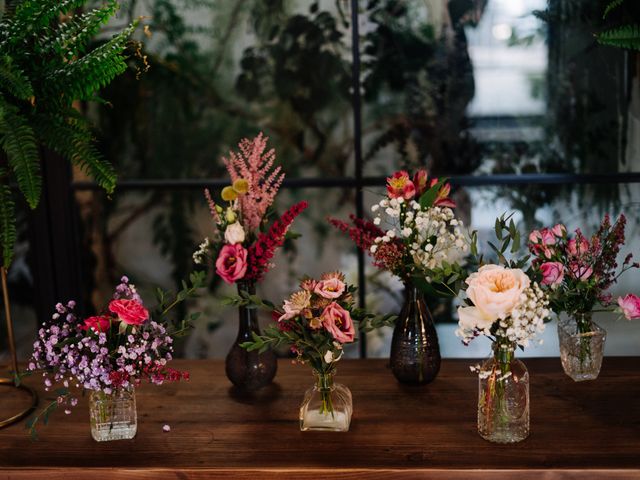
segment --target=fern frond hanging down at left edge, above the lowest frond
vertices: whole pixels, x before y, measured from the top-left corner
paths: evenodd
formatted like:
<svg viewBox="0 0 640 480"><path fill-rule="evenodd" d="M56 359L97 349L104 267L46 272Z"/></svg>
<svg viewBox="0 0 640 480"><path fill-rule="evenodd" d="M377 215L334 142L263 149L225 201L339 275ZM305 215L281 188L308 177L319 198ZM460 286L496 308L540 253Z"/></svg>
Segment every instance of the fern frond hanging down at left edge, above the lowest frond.
<svg viewBox="0 0 640 480"><path fill-rule="evenodd" d="M18 108L6 103L2 97L0 97L0 147L7 154L9 165L18 181L18 187L29 207L36 208L42 189L36 137Z"/></svg>

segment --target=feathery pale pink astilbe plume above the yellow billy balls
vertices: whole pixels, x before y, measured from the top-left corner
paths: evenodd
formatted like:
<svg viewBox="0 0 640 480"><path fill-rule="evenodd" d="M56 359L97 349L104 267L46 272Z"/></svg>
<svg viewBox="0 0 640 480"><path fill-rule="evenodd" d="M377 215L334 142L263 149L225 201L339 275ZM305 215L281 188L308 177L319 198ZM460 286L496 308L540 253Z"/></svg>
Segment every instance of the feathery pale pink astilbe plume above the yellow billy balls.
<svg viewBox="0 0 640 480"><path fill-rule="evenodd" d="M245 138L238 145L240 153L229 152L229 158L223 158L231 181L244 178L249 184L248 192L239 198L243 223L249 231L260 226L284 180L280 167L273 168L275 150L264 153L268 140L262 132L253 140Z"/></svg>

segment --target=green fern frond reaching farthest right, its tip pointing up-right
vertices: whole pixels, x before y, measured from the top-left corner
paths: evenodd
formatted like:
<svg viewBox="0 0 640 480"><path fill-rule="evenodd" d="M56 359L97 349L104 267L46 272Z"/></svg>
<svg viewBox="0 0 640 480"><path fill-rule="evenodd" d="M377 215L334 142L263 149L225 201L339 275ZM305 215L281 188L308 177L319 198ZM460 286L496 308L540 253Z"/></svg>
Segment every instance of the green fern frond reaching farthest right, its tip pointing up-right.
<svg viewBox="0 0 640 480"><path fill-rule="evenodd" d="M138 22L107 43L69 62L48 75L48 88L52 94L62 94L72 100L91 100L103 87L127 69L123 52Z"/></svg>

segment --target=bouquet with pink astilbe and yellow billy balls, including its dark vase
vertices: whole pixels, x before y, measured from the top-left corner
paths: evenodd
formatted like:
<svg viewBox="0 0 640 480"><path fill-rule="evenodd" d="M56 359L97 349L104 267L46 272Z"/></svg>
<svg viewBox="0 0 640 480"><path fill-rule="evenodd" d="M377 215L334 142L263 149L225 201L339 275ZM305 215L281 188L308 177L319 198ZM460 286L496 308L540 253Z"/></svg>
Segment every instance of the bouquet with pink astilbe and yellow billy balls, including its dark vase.
<svg viewBox="0 0 640 480"><path fill-rule="evenodd" d="M216 274L228 284L236 283L239 293L249 295L255 294L256 283L273 266L276 250L286 238L293 238L289 227L307 208L307 202L297 203L267 228L270 208L284 180L281 167L274 167L275 151L265 153L267 140L262 134L253 140L244 139L239 153L230 152L229 158L223 159L232 185L221 191L224 207L205 190L216 231L193 254L197 264L211 255ZM241 306L239 319L238 336L226 357L226 373L235 386L256 390L273 380L276 356L272 351L257 354L240 348L240 343L260 329L255 310Z"/></svg>

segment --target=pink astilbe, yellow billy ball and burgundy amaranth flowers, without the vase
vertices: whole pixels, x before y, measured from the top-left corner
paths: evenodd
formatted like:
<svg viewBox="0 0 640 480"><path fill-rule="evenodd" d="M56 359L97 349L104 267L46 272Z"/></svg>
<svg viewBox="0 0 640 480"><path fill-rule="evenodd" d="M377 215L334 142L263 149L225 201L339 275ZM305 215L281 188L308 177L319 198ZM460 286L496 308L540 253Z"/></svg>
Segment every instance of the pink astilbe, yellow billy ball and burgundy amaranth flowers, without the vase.
<svg viewBox="0 0 640 480"><path fill-rule="evenodd" d="M216 232L212 240L205 239L193 259L203 263L211 252L216 273L229 284L262 280L289 227L307 207L307 202L293 205L266 233L261 231L284 180L281 167L274 165L275 151L265 153L267 140L262 133L253 140L245 138L238 145L238 153L230 152L228 159L223 158L232 181L220 193L226 207L217 205L211 192L205 190Z"/></svg>

